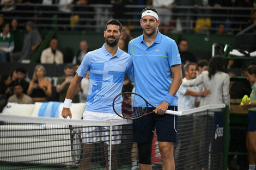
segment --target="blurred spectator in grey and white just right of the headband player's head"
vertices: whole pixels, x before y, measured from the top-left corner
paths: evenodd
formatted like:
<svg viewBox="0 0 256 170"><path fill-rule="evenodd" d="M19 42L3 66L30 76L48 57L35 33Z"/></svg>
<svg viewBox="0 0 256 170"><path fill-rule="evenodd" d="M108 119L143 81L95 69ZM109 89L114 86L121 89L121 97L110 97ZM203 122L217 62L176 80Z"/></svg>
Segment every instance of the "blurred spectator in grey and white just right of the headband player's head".
<svg viewBox="0 0 256 170"><path fill-rule="evenodd" d="M164 33L168 33L170 18L172 15L172 11L170 11L169 7L174 3L174 0L166 1L166 0L153 0L153 7L159 12L159 18L161 20L161 27L163 28Z"/></svg>

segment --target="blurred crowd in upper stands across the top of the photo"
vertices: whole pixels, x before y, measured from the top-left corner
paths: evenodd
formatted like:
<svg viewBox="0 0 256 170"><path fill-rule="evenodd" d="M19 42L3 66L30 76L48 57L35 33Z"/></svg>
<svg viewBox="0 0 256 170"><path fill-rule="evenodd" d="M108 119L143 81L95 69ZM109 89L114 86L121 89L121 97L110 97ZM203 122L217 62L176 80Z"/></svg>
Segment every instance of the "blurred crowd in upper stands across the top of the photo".
<svg viewBox="0 0 256 170"><path fill-rule="evenodd" d="M236 34L240 30L255 23L252 8L256 7L255 0L144 0L144 1L95 1L95 0L63 0L63 1L1 1L3 9L2 17L11 23L11 30L19 30L26 21L15 18L22 12L27 20L34 20L43 29L60 30L93 30L101 31L105 21L109 18L117 18L124 25L134 29L136 24L127 19L137 18L125 15L125 12L137 12L139 8L127 8L125 5L153 5L160 12L160 29L167 33L172 30L182 32L204 32L218 33L218 26L225 27L225 34ZM98 6L92 6L98 5ZM104 7L104 5L111 5ZM182 8L184 7L184 8ZM203 7L203 8L201 8ZM234 8L230 8L234 7ZM209 9L207 9L209 8ZM221 9L224 8L224 9ZM228 9L230 8L230 9ZM235 9L242 8L242 9ZM246 10L246 8L249 8ZM31 10L35 12L27 12ZM46 12L45 12L46 11ZM49 12L49 11L52 11ZM134 14L135 15L135 14ZM239 16L240 15L240 16ZM1 20L0 18L0 25ZM12 21L13 20L13 21ZM84 26L87 26L86 28ZM253 30L251 30L252 32Z"/></svg>

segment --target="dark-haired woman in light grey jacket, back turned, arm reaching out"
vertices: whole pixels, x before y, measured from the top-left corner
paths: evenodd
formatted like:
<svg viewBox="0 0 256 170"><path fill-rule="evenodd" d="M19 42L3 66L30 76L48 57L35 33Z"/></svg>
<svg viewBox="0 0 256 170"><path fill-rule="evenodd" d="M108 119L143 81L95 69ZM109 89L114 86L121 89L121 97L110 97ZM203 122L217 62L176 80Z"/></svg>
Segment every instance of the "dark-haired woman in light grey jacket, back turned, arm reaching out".
<svg viewBox="0 0 256 170"><path fill-rule="evenodd" d="M229 105L229 76L225 73L227 61L221 56L214 56L209 63L209 71L203 71L197 78L183 81L183 86L203 86L211 91L209 97L200 100L199 106L208 104Z"/></svg>

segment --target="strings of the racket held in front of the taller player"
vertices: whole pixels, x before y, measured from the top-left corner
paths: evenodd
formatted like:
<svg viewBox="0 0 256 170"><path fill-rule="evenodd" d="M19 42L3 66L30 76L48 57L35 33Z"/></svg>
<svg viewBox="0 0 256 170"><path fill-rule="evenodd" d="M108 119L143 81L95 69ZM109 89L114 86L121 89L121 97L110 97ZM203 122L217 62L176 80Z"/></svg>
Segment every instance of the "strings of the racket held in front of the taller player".
<svg viewBox="0 0 256 170"><path fill-rule="evenodd" d="M138 118L145 114L147 103L145 100L132 93L123 93L120 95L123 102L121 103L121 112L118 114L124 118Z"/></svg>

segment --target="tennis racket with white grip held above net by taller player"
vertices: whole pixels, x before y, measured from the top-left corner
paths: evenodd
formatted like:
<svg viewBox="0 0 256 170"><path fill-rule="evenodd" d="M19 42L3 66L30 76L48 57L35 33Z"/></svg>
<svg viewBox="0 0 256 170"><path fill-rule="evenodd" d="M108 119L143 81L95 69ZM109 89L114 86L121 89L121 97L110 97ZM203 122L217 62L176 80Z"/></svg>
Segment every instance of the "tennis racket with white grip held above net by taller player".
<svg viewBox="0 0 256 170"><path fill-rule="evenodd" d="M126 119L137 119L154 113L147 112L149 105L155 108L155 106L147 102L142 96L132 92L120 93L113 100L113 110L115 114ZM167 110L166 114L181 116L182 112Z"/></svg>

